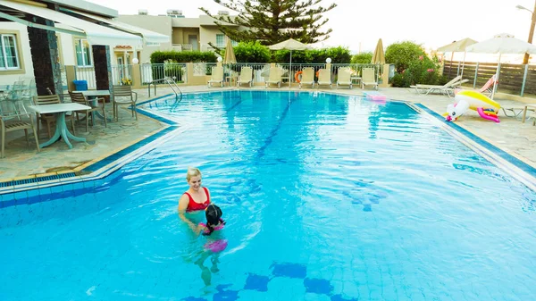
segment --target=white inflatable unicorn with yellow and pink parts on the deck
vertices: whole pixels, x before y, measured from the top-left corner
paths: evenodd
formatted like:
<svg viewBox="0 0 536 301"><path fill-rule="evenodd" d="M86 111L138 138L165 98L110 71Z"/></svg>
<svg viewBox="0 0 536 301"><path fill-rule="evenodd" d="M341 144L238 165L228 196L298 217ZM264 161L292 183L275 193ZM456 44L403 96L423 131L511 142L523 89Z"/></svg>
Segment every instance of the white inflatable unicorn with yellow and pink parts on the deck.
<svg viewBox="0 0 536 301"><path fill-rule="evenodd" d="M476 91L460 91L454 97L454 104L447 106L447 121L456 121L467 109L472 109L486 120L500 122L497 117L500 105Z"/></svg>

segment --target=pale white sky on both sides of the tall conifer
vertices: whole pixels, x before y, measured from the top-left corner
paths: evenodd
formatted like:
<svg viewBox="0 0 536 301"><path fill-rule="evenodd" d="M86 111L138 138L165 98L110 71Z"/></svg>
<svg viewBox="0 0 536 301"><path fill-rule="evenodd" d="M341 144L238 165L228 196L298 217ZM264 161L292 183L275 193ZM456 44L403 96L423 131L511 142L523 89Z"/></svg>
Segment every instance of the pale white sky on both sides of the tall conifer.
<svg viewBox="0 0 536 301"><path fill-rule="evenodd" d="M88 0L117 10L120 14L137 14L147 9L149 14L165 14L167 9L182 10L188 18L227 10L214 0ZM322 6L338 4L324 14L329 21L331 37L323 46L346 46L352 52L373 51L378 39L383 46L410 40L427 50L436 49L462 38L482 41L499 33L509 33L527 40L531 13L518 10L516 4L533 10L536 0L322 0ZM225 2L225 0L222 0ZM230 11L230 14L236 14ZM317 46L322 46L317 45ZM456 54L457 55L457 54ZM462 54L463 55L463 54Z"/></svg>

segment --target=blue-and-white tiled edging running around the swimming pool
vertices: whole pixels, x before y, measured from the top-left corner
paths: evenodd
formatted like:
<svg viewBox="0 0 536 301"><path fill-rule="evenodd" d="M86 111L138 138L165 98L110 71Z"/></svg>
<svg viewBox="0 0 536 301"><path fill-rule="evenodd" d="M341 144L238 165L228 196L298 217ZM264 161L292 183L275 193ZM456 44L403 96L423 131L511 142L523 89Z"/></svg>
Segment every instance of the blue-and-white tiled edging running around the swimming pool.
<svg viewBox="0 0 536 301"><path fill-rule="evenodd" d="M349 95L344 92L340 93L339 91L329 91L329 90L328 91L326 90L281 91L279 89L259 90L259 89L247 89L247 88L214 89L212 91L192 91L192 92L188 92L187 94L205 94L205 93L211 93L211 92L228 92L228 91L322 93L322 94L327 94L327 95L331 94L331 95L337 95L337 96L357 96L357 97L362 97L362 98L364 97L363 94ZM29 191L32 189L39 189L39 188L47 188L47 187L52 187L52 186L57 186L57 185L74 184L80 181L101 180L107 177L108 175L112 174L114 171L118 171L119 169L121 169L121 167L124 166L126 163L130 163L136 158L138 158L139 156L147 154L151 149L154 149L155 146L159 146L163 144L163 142L165 142L169 138L180 134L184 130L187 130L190 127L190 125L181 124L180 121L174 121L170 119L169 116L163 116L155 112L149 112L147 111L147 109L141 107L143 105L147 105L148 103L155 102L156 100L159 100L168 96L172 96L172 95L173 94L155 96L154 98L147 99L143 102L140 102L139 104L135 106L135 110L138 113L141 113L148 118L152 118L155 121L161 121L167 125L164 125L162 128L148 133L142 138L138 138L134 141L131 141L130 144L126 146L120 146L106 155L100 156L87 163L83 163L73 168L72 170L32 174L29 176L17 177L11 180L1 181L0 184L6 183L6 182L7 183L13 182L13 185L0 187L0 204L1 204L0 207L4 207L5 201L2 196L5 196L5 195L10 195L10 194L16 195L16 193L18 192L24 192L24 191ZM407 105L416 113L420 113L423 116L427 117L427 119L429 119L429 121L431 121L433 125L439 126L441 130L444 130L446 133L448 133L448 135L456 138L456 140L458 140L460 143L464 144L465 146L470 147L470 149L472 149L476 154L481 155L484 159L486 159L490 163L496 165L501 170L506 171L515 180L519 180L520 182L523 183L523 185L527 186L528 188L531 188L533 191L536 191L536 167L533 166L532 163L528 162L528 160L524 158L523 156L512 154L511 152L504 150L499 146L494 145L493 143L488 141L486 138L483 138L482 136L474 133L472 130L468 130L463 125L459 125L454 122L448 122L447 124L446 122L444 122L444 118L439 113L436 113L427 105L423 105L422 103L414 103L411 101L392 99L392 98L387 99L387 101L390 103L401 103L401 104ZM132 106L130 106L129 108L130 110L132 110ZM440 122L440 121L443 121L443 122ZM161 135L157 137L159 134ZM146 141L146 140L149 140L149 141ZM503 154L502 155L497 154L493 150L490 150L490 147L484 146L484 143L477 141L477 140L482 140L486 145L492 146L492 148L496 148L500 153L503 153ZM119 158L113 161L109 160L109 158L113 157L114 155L121 154L121 152L137 144L140 144L140 146L136 147L134 150L132 150L128 154L123 154ZM504 157L505 155L507 156L507 158ZM514 160L511 160L511 159L514 159ZM512 163L512 161L514 161L515 163ZM102 166L99 166L98 164L101 164ZM525 169L528 168L531 171L530 172L523 171L523 168L518 165L522 165L523 168ZM99 166L99 168L95 168L95 166ZM91 168L93 168L93 170L90 170ZM42 179L42 180L38 180L38 179ZM27 183L24 183L24 181L27 181Z"/></svg>

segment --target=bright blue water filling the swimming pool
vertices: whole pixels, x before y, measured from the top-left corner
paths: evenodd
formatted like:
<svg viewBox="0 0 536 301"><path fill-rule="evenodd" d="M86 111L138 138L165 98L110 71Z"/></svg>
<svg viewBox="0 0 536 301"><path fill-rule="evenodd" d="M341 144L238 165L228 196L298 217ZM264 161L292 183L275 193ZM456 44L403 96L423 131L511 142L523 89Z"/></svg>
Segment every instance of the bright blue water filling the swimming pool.
<svg viewBox="0 0 536 301"><path fill-rule="evenodd" d="M0 300L536 296L536 194L407 105L226 91L145 107L188 130L0 209ZM188 166L222 207L220 254L178 218Z"/></svg>

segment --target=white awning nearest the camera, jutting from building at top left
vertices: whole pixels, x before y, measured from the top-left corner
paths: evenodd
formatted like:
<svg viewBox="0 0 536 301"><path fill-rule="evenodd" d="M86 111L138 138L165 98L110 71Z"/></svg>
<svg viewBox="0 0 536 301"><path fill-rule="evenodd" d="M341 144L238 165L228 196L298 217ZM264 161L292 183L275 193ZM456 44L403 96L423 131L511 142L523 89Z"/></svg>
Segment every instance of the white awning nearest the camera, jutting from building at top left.
<svg viewBox="0 0 536 301"><path fill-rule="evenodd" d="M88 39L88 42L92 45L130 45L134 47L141 47L142 39L136 35L126 33L116 29L110 29L105 26L97 25L88 21L81 20L79 18L72 17L65 13L56 12L54 10L48 9L46 7L35 6L30 4L23 4L20 2L12 2L0 0L0 5L12 8L22 13L29 13L38 17L42 17L46 20L54 21L66 26L69 26L73 29L80 29L81 32L71 31L72 35L80 35ZM6 18L5 13L2 13L2 16ZM37 28L46 28L55 31L66 32L69 30L56 29L54 27L46 27L41 24L32 23L23 19L13 17L11 15L7 16L9 20L19 22L29 27Z"/></svg>

